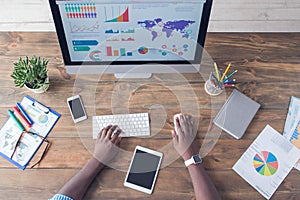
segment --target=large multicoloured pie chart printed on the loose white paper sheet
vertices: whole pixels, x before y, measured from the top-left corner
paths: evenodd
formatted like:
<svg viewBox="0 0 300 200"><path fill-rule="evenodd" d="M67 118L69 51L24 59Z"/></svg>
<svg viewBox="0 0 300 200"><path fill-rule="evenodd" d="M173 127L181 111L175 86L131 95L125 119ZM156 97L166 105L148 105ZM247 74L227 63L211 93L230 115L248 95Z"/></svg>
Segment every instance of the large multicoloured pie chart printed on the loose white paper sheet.
<svg viewBox="0 0 300 200"><path fill-rule="evenodd" d="M253 166L259 174L272 176L278 170L278 160L271 152L261 151L254 156Z"/></svg>

